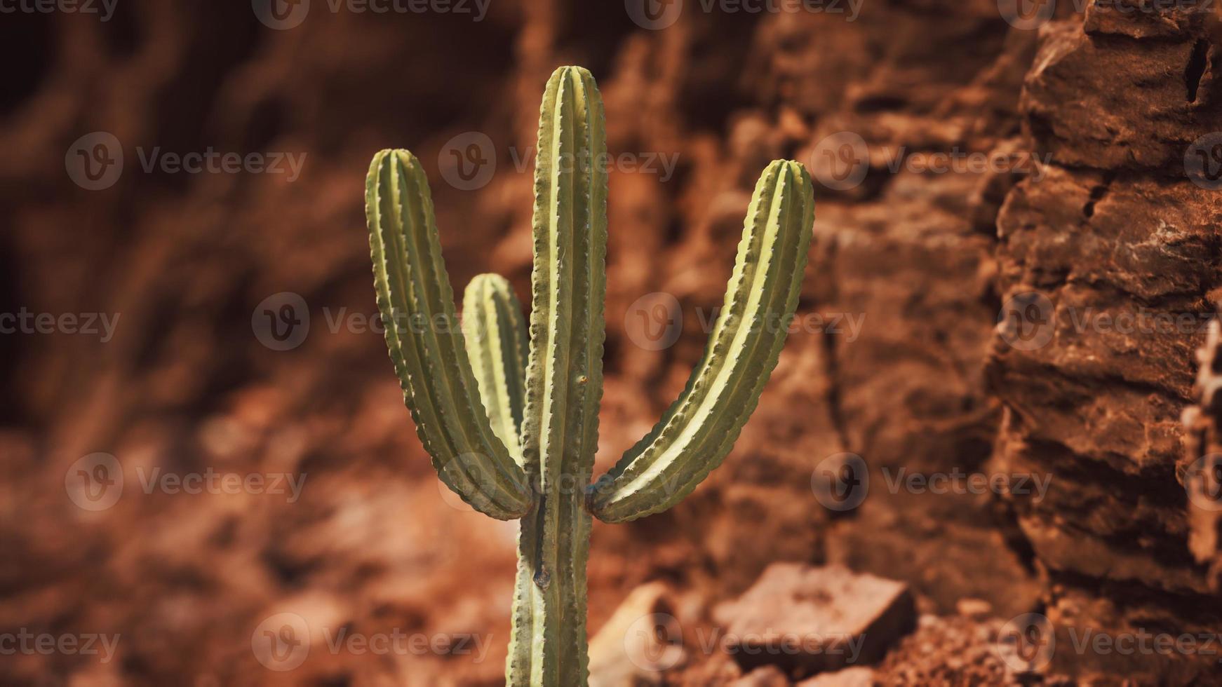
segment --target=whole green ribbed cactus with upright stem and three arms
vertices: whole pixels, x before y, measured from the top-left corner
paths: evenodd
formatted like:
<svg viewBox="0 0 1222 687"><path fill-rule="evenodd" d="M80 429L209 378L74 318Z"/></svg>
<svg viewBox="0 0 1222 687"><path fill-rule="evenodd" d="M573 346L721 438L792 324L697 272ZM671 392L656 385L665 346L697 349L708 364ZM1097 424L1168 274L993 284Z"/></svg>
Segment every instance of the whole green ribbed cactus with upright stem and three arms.
<svg viewBox="0 0 1222 687"><path fill-rule="evenodd" d="M386 344L442 482L519 520L506 682L584 685L591 515L623 522L689 494L730 453L776 366L797 308L814 198L798 162L760 176L725 305L687 388L591 484L602 395L607 174L602 101L561 67L539 115L529 332L508 282L480 275L462 326L428 181L407 150L374 156L365 212Z"/></svg>

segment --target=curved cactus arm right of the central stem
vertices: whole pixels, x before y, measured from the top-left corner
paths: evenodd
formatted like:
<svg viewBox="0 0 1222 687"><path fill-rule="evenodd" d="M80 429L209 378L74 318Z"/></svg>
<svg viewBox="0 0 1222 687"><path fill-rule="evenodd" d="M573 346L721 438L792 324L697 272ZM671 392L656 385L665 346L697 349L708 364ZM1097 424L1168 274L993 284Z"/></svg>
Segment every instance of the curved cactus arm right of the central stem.
<svg viewBox="0 0 1222 687"><path fill-rule="evenodd" d="M805 168L760 174L704 359L662 419L590 488L590 510L623 522L671 508L733 447L776 367L798 304L814 196Z"/></svg>

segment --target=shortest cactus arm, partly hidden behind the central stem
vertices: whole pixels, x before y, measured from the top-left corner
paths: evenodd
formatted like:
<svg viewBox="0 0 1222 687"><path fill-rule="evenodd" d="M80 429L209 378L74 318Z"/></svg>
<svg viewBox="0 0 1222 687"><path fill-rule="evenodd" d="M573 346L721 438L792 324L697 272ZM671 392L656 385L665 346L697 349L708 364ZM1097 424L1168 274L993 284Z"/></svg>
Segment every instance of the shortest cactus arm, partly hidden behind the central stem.
<svg viewBox="0 0 1222 687"><path fill-rule="evenodd" d="M513 287L500 275L478 275L463 293L462 331L467 358L492 432L518 466L525 405L527 325Z"/></svg>

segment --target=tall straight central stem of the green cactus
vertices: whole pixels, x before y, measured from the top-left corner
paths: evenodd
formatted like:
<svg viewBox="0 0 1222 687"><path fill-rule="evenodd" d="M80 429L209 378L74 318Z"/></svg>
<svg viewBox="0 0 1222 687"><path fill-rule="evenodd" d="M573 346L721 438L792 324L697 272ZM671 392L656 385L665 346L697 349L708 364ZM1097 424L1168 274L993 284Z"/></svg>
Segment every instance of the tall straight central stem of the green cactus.
<svg viewBox="0 0 1222 687"><path fill-rule="evenodd" d="M538 476L522 520L511 686L584 685L585 486L598 444L606 293L606 140L590 73L561 67L539 116L523 450Z"/></svg>

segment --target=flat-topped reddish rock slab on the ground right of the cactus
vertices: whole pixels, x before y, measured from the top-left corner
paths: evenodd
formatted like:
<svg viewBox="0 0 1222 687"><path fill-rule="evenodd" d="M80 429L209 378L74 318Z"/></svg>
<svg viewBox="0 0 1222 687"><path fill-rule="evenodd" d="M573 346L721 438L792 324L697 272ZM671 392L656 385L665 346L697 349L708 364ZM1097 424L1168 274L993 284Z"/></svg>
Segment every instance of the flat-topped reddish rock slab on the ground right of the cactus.
<svg viewBox="0 0 1222 687"><path fill-rule="evenodd" d="M715 617L744 672L775 665L796 678L877 663L916 620L908 586L833 565L775 563Z"/></svg>

